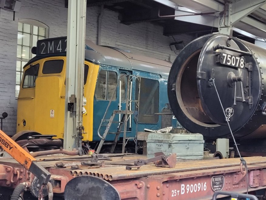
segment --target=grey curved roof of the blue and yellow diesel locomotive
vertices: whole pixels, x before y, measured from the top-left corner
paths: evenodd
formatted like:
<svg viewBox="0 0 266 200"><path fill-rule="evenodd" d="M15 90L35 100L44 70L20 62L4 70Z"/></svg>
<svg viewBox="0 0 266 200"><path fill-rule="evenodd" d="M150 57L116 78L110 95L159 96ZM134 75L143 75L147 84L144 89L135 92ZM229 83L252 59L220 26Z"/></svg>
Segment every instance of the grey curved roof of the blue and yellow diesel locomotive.
<svg viewBox="0 0 266 200"><path fill-rule="evenodd" d="M27 65L40 58L51 56L66 56L66 52L56 53L52 55L37 54L27 63ZM172 63L168 61L132 54L130 52L126 52L115 47L98 46L90 40L86 40L85 60L100 65L109 65L114 67L135 69L139 71L160 74L162 77L168 77L170 68L172 66Z"/></svg>

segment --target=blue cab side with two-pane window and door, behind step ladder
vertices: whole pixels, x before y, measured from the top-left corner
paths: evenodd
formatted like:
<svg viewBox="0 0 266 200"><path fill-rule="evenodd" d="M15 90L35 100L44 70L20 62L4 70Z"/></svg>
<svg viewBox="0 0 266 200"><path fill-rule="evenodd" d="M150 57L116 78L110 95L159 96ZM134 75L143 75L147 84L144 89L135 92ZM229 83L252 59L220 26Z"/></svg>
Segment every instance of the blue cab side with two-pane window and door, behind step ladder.
<svg viewBox="0 0 266 200"><path fill-rule="evenodd" d="M95 133L97 133L97 129L99 128L101 122L102 125L100 127L100 134L103 135L114 110L125 110L127 97L127 75L129 74L130 72L126 70L119 70L118 68L110 66L101 66L94 97L94 136L96 136ZM109 102L110 105L107 109ZM105 112L106 117L103 119ZM121 121L122 116L122 114L115 115L113 124L110 126L109 133L115 133L118 131L119 121ZM130 130L129 125L130 119L128 120L127 130ZM124 129L122 128L122 132L123 130ZM123 133L121 133L120 137L122 137L122 135ZM113 141L114 137L115 134L108 134L105 140ZM100 138L96 136L93 140L99 141Z"/></svg>

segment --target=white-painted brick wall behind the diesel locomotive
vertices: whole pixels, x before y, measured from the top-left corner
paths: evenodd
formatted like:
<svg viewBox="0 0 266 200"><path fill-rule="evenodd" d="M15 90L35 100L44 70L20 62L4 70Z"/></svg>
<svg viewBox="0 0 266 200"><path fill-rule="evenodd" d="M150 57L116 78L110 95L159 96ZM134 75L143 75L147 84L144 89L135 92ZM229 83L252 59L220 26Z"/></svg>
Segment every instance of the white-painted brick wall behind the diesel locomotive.
<svg viewBox="0 0 266 200"><path fill-rule="evenodd" d="M19 12L0 10L0 114L7 112L3 131L9 135L16 133L15 71L18 21L35 19L49 27L49 37L67 35L67 9L64 0L21 0ZM97 42L98 16L100 6L87 8L86 39ZM175 36L185 44L194 38L189 35ZM104 9L101 26L101 45L129 49L136 54L174 61L176 53L170 50L173 37L163 36L161 26L143 22L124 25L118 19L118 13Z"/></svg>

